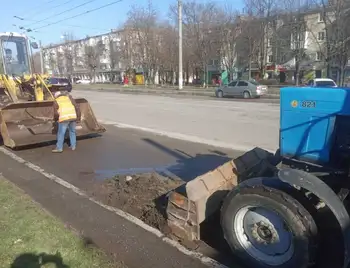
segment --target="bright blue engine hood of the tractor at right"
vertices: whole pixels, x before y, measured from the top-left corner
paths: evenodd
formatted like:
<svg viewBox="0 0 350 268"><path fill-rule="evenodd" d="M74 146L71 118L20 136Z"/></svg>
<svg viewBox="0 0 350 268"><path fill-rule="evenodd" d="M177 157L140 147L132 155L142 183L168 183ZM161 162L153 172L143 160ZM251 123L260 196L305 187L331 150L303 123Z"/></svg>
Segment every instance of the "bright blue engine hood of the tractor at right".
<svg viewBox="0 0 350 268"><path fill-rule="evenodd" d="M281 88L280 112L283 157L350 167L350 89Z"/></svg>

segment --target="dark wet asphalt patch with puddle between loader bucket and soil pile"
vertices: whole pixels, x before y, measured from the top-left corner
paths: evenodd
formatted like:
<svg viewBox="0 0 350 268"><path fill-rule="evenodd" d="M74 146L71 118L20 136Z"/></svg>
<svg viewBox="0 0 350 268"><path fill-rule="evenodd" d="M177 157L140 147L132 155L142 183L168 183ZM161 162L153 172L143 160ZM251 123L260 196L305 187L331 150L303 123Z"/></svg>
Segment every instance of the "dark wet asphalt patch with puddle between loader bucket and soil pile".
<svg viewBox="0 0 350 268"><path fill-rule="evenodd" d="M79 140L76 151L66 144L62 154L51 153L54 145L16 154L78 187L87 181L152 170L167 170L189 181L242 154L142 131L106 128L101 136Z"/></svg>

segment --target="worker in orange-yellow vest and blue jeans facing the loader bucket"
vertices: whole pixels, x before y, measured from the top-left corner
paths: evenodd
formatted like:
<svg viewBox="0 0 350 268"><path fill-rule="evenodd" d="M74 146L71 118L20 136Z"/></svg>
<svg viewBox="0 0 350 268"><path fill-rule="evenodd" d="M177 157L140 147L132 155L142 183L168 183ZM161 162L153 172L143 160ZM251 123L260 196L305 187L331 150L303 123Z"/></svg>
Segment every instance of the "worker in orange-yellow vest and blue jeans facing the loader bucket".
<svg viewBox="0 0 350 268"><path fill-rule="evenodd" d="M54 94L54 119L58 124L57 144L53 153L63 152L63 143L66 131L69 131L70 148L76 149L76 122L80 121L81 113L79 106L68 92L57 91Z"/></svg>

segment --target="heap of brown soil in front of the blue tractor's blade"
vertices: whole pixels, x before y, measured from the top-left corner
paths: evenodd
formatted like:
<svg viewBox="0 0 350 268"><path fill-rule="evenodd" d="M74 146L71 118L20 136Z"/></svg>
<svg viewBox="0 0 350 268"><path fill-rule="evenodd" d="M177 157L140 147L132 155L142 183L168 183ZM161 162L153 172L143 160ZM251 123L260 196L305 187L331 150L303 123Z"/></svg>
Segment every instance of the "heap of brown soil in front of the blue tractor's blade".
<svg viewBox="0 0 350 268"><path fill-rule="evenodd" d="M96 185L92 195L166 232L166 194L181 184L156 173L122 175Z"/></svg>

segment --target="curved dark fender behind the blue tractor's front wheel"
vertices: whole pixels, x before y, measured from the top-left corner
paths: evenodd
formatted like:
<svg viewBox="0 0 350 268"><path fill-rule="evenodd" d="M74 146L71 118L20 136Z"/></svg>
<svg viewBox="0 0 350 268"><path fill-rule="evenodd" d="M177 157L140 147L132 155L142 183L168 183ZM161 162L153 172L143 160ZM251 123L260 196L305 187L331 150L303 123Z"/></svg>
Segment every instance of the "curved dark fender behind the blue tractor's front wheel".
<svg viewBox="0 0 350 268"><path fill-rule="evenodd" d="M278 178L292 186L300 187L312 192L322 200L336 217L344 237L344 268L350 267L350 218L343 202L336 193L318 177L302 170L291 168L281 169Z"/></svg>

